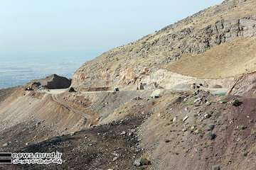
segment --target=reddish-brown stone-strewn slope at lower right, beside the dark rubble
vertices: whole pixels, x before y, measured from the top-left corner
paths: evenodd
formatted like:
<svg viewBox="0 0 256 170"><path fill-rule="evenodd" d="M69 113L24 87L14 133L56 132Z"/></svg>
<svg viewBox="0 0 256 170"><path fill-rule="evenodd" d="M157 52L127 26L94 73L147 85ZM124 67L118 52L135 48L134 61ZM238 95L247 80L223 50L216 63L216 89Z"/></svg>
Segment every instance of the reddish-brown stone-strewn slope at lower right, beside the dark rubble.
<svg viewBox="0 0 256 170"><path fill-rule="evenodd" d="M161 100L140 131L151 169L255 169L255 98L240 106L208 94Z"/></svg>

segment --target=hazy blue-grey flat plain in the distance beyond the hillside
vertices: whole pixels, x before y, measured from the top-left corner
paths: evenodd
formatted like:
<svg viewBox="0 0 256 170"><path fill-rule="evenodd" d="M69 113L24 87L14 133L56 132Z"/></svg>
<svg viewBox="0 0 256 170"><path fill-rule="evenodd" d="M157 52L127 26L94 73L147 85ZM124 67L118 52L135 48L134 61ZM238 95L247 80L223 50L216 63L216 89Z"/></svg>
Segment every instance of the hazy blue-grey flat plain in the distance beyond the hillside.
<svg viewBox="0 0 256 170"><path fill-rule="evenodd" d="M83 56L83 55L82 55ZM0 57L0 89L26 84L49 74L71 78L87 57Z"/></svg>

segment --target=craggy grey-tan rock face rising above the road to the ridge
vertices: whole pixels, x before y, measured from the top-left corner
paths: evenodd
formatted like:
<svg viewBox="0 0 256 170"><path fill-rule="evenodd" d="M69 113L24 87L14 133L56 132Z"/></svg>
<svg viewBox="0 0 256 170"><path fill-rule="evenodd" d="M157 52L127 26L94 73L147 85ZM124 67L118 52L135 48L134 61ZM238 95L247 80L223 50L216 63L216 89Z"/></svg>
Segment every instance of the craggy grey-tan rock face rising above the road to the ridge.
<svg viewBox="0 0 256 170"><path fill-rule="evenodd" d="M224 1L85 63L75 72L72 86L137 86L183 55L200 54L225 42L254 37L255 8L253 0Z"/></svg>

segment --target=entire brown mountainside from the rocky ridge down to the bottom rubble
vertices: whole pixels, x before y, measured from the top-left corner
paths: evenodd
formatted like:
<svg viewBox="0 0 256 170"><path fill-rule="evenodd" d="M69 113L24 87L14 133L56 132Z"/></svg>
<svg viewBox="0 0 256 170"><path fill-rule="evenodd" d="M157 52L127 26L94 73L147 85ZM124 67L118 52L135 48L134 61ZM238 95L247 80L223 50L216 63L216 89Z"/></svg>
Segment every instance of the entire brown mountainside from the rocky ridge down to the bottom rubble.
<svg viewBox="0 0 256 170"><path fill-rule="evenodd" d="M105 52L75 91L2 89L0 152L58 150L63 164L0 169L255 170L255 7L225 1Z"/></svg>

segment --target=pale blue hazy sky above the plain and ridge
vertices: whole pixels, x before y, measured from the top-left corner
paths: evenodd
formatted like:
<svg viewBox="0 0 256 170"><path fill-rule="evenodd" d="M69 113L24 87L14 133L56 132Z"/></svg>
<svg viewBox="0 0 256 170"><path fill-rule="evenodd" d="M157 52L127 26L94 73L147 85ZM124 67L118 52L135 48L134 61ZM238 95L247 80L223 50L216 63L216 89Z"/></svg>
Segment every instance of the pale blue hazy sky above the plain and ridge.
<svg viewBox="0 0 256 170"><path fill-rule="evenodd" d="M0 0L0 57L96 57L222 0Z"/></svg>

